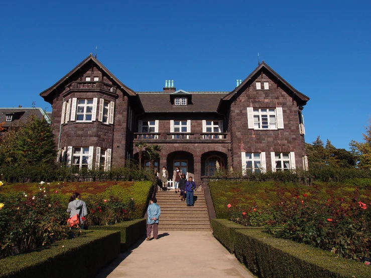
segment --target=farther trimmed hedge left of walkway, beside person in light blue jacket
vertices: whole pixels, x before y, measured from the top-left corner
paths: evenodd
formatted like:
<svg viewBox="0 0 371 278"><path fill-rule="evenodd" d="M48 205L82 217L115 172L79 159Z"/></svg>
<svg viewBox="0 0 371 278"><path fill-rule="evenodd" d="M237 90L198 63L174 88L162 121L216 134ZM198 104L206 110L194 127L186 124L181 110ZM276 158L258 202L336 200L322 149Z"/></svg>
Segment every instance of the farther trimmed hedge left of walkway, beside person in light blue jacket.
<svg viewBox="0 0 371 278"><path fill-rule="evenodd" d="M89 229L120 231L120 251L124 252L146 234L146 219L125 221L111 226L89 226Z"/></svg>

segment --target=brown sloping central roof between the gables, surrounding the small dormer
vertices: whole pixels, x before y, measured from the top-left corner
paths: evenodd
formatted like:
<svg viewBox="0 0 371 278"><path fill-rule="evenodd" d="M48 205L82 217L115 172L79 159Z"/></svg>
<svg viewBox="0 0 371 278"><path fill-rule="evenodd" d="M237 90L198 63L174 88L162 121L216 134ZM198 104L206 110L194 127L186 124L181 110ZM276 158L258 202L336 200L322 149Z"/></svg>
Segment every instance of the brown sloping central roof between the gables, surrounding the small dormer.
<svg viewBox="0 0 371 278"><path fill-rule="evenodd" d="M185 93L184 93L185 92ZM220 100L229 92L189 92L181 95L192 95L187 106L175 106L171 103L168 92L137 92L146 112L216 112ZM176 94L175 94L176 95Z"/></svg>

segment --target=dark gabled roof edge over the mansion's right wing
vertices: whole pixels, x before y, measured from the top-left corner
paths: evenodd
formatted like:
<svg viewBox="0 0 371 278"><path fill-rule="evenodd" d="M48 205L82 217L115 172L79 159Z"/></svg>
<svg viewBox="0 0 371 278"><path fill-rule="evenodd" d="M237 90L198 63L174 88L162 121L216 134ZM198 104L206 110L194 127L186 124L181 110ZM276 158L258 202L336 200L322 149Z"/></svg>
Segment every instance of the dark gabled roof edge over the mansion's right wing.
<svg viewBox="0 0 371 278"><path fill-rule="evenodd" d="M270 66L267 65L266 62L262 62L248 77L245 78L245 80L242 81L241 84L239 84L233 91L231 91L229 94L224 96L223 100L229 100L231 99L235 93L239 91L240 88L242 88L246 83L251 81L251 78L256 75L260 70L262 69L268 70L273 76L277 78L276 82L283 83L289 90L293 92L294 95L296 95L298 98L300 98L302 101L307 102L310 98L306 96L305 94L299 92L297 89L295 89L293 86L289 84L285 79L283 79L277 72L275 72Z"/></svg>

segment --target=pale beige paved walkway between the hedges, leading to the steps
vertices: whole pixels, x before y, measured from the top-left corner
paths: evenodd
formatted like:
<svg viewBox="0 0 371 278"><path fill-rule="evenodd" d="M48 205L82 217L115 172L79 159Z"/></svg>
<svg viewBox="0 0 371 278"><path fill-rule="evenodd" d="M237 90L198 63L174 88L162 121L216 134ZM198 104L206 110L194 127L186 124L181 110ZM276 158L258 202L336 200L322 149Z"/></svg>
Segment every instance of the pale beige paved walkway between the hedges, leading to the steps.
<svg viewBox="0 0 371 278"><path fill-rule="evenodd" d="M97 278L254 278L211 232L160 231L159 235L157 240L140 239Z"/></svg>

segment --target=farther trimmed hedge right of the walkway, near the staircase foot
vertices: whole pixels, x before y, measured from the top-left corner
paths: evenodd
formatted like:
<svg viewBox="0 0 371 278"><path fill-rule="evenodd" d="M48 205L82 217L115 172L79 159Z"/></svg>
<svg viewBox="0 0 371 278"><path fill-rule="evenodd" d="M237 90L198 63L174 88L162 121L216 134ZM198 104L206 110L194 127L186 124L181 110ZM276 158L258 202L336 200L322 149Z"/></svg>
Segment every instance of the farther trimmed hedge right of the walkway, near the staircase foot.
<svg viewBox="0 0 371 278"><path fill-rule="evenodd" d="M237 229L255 229L261 230L263 228L257 227L245 227L239 224L236 224L228 219L211 219L211 227L214 236L220 241L221 244L227 248L231 253L235 251L235 241Z"/></svg>

